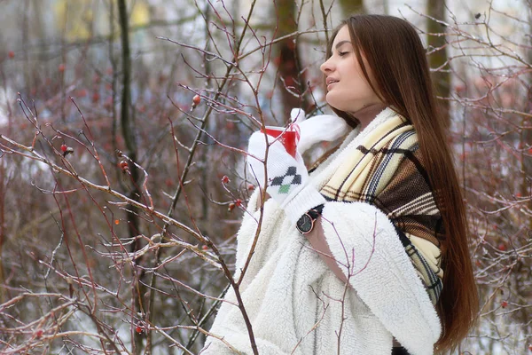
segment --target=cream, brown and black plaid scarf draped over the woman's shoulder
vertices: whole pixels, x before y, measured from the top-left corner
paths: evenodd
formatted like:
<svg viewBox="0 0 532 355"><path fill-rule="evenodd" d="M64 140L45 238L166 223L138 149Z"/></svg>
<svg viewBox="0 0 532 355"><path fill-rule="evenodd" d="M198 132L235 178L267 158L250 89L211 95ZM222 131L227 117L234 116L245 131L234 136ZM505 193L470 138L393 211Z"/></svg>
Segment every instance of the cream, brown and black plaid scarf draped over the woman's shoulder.
<svg viewBox="0 0 532 355"><path fill-rule="evenodd" d="M436 304L442 292L442 217L409 122L394 115L380 123L320 192L329 201L363 201L385 213Z"/></svg>

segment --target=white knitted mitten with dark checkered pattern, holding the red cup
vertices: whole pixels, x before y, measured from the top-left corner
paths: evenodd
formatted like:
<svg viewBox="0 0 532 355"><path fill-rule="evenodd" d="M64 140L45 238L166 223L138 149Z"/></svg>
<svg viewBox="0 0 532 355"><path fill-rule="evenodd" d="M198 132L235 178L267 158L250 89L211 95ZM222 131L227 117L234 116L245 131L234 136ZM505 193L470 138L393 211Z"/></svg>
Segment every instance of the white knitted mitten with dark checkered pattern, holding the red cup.
<svg viewBox="0 0 532 355"><path fill-rule="evenodd" d="M270 142L266 157L266 137ZM293 158L277 139L265 136L261 131L254 132L249 138L247 164L258 184L264 186L264 158L267 158L268 185L266 192L278 205L285 209L287 217L293 223L309 209L325 203L325 197L314 186L307 185L309 173L301 154Z"/></svg>

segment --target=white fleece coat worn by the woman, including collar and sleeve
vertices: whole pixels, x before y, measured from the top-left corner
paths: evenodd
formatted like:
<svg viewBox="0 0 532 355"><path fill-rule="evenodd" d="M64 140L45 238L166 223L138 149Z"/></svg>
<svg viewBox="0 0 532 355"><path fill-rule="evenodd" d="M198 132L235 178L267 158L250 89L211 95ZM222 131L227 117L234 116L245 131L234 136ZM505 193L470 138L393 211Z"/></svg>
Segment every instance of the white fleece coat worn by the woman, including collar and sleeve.
<svg viewBox="0 0 532 355"><path fill-rule="evenodd" d="M318 190L325 185L342 156L388 117L381 113L358 136L351 132L310 174L309 184ZM238 233L236 280L254 241L258 198L257 189ZM332 256L346 274L349 265L352 288L328 269L276 201L264 203L261 233L240 287L259 353L387 355L395 336L412 355L432 354L440 321L388 218L367 203L332 201L325 203L323 221ZM210 332L252 354L231 288L225 301ZM236 352L209 336L201 353Z"/></svg>

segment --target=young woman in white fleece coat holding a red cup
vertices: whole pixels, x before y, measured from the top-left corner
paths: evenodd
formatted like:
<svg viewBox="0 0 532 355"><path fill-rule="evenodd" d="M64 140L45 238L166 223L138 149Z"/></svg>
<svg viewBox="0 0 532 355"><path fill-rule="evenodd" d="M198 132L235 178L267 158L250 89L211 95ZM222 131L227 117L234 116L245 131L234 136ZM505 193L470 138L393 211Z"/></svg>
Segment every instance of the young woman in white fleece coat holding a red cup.
<svg viewBox="0 0 532 355"><path fill-rule="evenodd" d="M299 153L347 134L335 152L308 172L274 138L255 132L249 141L250 171L266 193L249 201L235 277L254 248L239 291L256 349L452 349L472 326L478 296L419 36L395 17L352 16L334 31L321 70L338 117L302 122ZM234 292L225 301L202 353L253 353Z"/></svg>

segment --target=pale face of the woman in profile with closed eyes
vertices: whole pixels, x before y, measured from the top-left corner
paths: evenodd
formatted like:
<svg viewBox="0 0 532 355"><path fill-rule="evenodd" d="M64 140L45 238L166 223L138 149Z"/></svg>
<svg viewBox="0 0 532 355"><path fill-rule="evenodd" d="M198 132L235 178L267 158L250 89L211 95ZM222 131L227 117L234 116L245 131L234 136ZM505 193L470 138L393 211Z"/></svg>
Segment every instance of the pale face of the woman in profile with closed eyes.
<svg viewBox="0 0 532 355"><path fill-rule="evenodd" d="M371 68L365 67L372 78ZM332 43L331 58L320 69L327 77L325 99L332 107L353 114L365 106L381 102L364 78L347 26L340 28Z"/></svg>

